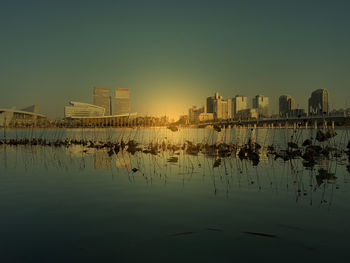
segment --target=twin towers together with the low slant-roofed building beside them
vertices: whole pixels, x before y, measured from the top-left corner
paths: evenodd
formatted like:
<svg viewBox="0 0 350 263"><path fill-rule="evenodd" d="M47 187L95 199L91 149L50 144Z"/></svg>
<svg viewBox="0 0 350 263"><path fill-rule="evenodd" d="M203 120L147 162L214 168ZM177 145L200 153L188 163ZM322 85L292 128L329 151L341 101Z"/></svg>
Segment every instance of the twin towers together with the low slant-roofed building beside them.
<svg viewBox="0 0 350 263"><path fill-rule="evenodd" d="M130 115L130 90L116 88L111 96L109 87L93 87L93 104L71 101L64 108L66 119L106 118Z"/></svg>

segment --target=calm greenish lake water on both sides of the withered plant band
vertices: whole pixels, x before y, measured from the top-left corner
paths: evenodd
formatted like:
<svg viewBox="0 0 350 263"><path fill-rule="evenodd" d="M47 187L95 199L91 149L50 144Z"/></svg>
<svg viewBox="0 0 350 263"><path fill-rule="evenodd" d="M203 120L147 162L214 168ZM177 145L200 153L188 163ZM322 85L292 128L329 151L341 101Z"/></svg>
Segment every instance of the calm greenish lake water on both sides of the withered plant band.
<svg viewBox="0 0 350 263"><path fill-rule="evenodd" d="M350 132L337 132L329 144L344 148ZM262 146L285 147L315 131L6 131L7 139L22 137L144 144L239 144L254 137ZM110 156L82 146L2 145L0 262L349 261L347 158L325 159L314 169L301 159L265 156L257 166L217 160L181 151ZM320 169L333 179L320 179Z"/></svg>

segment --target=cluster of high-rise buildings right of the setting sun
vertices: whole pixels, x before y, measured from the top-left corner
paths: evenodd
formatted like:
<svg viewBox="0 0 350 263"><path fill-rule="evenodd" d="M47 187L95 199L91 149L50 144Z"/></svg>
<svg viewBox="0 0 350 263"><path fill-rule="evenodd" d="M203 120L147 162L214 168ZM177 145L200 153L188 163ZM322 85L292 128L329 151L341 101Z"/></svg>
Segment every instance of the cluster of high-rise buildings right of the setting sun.
<svg viewBox="0 0 350 263"><path fill-rule="evenodd" d="M318 89L312 92L308 100L308 112L296 108L294 98L290 95L279 97L279 112L277 118L295 118L305 116L323 116L332 114L329 112L328 91ZM338 113L338 112L337 112ZM188 119L191 123L210 120L248 120L271 117L269 98L265 95L256 95L252 99L251 107L244 95L236 95L234 98L224 99L219 93L208 97L206 105L189 109Z"/></svg>

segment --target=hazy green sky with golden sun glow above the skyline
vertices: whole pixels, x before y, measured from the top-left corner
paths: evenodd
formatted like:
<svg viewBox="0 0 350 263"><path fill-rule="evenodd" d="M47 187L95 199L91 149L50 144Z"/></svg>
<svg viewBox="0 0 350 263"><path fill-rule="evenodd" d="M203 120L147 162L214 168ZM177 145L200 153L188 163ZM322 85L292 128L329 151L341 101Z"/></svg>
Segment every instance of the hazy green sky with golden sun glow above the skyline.
<svg viewBox="0 0 350 263"><path fill-rule="evenodd" d="M329 91L350 107L350 1L2 0L0 108L51 118L92 87L130 88L132 112L178 117L224 98Z"/></svg>

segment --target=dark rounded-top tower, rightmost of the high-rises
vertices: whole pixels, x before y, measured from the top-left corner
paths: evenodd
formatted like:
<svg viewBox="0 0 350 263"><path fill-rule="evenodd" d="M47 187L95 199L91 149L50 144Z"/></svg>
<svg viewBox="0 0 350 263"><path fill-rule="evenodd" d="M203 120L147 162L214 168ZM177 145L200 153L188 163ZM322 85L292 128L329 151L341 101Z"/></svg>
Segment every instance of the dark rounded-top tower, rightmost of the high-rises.
<svg viewBox="0 0 350 263"><path fill-rule="evenodd" d="M311 93L309 98L309 115L328 115L328 91L318 89Z"/></svg>

